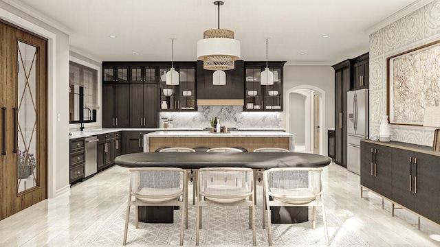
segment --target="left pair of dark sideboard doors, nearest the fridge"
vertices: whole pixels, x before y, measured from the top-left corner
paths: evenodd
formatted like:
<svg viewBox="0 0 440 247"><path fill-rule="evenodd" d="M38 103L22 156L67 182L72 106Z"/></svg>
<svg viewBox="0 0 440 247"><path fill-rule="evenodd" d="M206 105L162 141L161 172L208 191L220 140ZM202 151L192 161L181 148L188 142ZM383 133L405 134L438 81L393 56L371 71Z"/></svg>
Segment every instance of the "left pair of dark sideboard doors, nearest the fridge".
<svg viewBox="0 0 440 247"><path fill-rule="evenodd" d="M360 184L386 198L393 198L393 148L373 143L361 143Z"/></svg>

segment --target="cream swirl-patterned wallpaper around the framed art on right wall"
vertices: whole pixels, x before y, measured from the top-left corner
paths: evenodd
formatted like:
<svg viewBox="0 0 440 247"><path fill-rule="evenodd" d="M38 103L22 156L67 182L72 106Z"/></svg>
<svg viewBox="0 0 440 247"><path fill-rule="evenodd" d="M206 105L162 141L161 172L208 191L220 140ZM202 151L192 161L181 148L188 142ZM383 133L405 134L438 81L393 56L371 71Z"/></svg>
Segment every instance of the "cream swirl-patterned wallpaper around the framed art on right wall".
<svg viewBox="0 0 440 247"><path fill-rule="evenodd" d="M440 39L440 0L370 34L370 134L386 115L386 58ZM440 114L440 113L439 113ZM391 140L432 146L434 128L391 125Z"/></svg>

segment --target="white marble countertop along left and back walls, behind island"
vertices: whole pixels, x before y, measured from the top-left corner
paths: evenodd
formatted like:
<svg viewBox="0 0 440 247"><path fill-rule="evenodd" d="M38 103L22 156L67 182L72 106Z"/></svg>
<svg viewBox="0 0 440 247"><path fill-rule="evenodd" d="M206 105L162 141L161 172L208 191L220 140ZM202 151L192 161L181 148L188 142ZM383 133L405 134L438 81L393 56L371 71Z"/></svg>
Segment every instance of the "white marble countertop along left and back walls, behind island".
<svg viewBox="0 0 440 247"><path fill-rule="evenodd" d="M93 137L98 134L107 134L111 132L118 132L118 131L163 131L163 132L201 132L203 128L104 128L104 129L91 129L91 130L84 130L84 131L76 131L72 132L72 135L69 136L69 139L76 139L76 138L82 138L82 137ZM285 131L284 128L239 128L239 131L252 131L252 132L283 132ZM237 132L237 131L235 131Z"/></svg>

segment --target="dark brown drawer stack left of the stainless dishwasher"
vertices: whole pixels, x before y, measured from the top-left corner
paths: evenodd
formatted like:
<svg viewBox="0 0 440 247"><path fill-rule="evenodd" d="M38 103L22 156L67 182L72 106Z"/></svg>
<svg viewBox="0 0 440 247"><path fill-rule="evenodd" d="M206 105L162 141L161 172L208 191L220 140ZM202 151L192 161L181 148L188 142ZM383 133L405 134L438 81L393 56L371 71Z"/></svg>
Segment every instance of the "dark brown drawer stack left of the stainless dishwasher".
<svg viewBox="0 0 440 247"><path fill-rule="evenodd" d="M69 183L85 177L85 138L71 139L69 141Z"/></svg>

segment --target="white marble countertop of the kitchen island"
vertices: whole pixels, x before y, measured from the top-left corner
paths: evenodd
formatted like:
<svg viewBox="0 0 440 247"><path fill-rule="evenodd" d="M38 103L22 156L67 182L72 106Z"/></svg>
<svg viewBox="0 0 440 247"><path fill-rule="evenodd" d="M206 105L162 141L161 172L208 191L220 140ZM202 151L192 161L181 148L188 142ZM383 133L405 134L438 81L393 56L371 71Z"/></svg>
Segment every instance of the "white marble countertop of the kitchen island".
<svg viewBox="0 0 440 247"><path fill-rule="evenodd" d="M211 133L208 131L155 131L144 134L144 137L294 137L294 134L283 131L231 131L228 133Z"/></svg>

